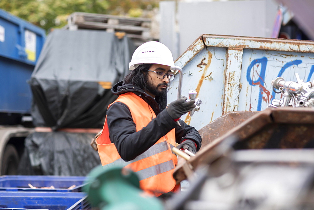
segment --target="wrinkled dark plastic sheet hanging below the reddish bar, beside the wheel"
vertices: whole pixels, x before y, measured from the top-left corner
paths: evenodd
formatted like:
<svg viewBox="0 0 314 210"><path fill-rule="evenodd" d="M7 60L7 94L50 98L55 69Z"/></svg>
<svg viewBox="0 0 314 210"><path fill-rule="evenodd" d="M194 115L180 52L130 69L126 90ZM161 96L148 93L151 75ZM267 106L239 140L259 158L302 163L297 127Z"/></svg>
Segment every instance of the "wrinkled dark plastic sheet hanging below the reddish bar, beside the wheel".
<svg viewBox="0 0 314 210"><path fill-rule="evenodd" d="M54 131L35 132L25 139L18 173L22 175L86 176L100 165L90 145L95 134Z"/></svg>

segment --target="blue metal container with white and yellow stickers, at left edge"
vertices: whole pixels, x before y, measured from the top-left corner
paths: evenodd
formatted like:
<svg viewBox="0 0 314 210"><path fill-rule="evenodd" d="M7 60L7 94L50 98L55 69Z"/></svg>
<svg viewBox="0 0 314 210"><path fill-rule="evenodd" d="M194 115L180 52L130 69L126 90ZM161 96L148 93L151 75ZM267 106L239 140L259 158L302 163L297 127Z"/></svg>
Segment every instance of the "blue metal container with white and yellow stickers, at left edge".
<svg viewBox="0 0 314 210"><path fill-rule="evenodd" d="M0 112L30 113L30 79L45 30L0 9Z"/></svg>

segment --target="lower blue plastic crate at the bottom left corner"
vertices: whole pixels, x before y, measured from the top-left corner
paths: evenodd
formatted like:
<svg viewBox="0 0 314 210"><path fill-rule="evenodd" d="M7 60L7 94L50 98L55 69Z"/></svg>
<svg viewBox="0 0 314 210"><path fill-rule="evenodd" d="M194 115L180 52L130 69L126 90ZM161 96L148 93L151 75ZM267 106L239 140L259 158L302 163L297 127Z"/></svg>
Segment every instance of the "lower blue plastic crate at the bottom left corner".
<svg viewBox="0 0 314 210"><path fill-rule="evenodd" d="M0 192L1 208L90 209L83 192Z"/></svg>

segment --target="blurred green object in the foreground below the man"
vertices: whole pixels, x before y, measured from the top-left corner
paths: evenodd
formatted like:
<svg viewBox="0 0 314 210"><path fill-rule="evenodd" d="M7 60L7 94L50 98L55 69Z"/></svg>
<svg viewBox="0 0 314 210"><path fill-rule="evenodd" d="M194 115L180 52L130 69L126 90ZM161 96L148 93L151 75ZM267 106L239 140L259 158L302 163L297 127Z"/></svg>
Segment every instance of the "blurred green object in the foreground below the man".
<svg viewBox="0 0 314 210"><path fill-rule="evenodd" d="M122 167L104 169L98 166L88 176L84 186L93 207L106 210L164 209L162 202L139 188L137 175Z"/></svg>

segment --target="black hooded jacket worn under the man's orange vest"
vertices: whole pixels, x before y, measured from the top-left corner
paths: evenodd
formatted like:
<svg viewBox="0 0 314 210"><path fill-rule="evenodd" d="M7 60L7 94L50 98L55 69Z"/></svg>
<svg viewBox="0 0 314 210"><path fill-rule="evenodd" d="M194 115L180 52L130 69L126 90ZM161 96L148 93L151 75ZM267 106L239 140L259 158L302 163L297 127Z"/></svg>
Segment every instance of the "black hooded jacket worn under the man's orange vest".
<svg viewBox="0 0 314 210"><path fill-rule="evenodd" d="M162 105L165 104L165 97L156 97L158 103L141 88L132 84L122 85L122 81L114 85L111 91L118 96L126 92L135 93L147 102L157 116L146 127L136 132L136 125L127 105L115 102L107 110L109 137L124 161L133 160L145 152L173 128L176 129L177 143L181 143L184 139L191 139L196 143L197 150L201 147L202 138L198 131L183 120L179 120L181 124L179 126L167 113L165 105Z"/></svg>

